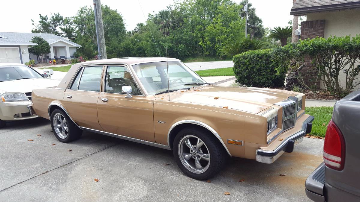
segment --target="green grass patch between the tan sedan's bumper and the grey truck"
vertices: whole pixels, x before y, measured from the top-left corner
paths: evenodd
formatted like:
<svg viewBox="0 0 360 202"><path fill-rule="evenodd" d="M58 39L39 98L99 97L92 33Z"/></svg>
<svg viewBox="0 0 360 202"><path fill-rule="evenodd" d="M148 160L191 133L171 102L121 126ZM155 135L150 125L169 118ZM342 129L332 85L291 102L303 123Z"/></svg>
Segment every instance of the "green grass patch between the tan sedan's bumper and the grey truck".
<svg viewBox="0 0 360 202"><path fill-rule="evenodd" d="M306 114L315 117L312 122L311 136L325 137L327 125L333 114L334 107L305 107Z"/></svg>

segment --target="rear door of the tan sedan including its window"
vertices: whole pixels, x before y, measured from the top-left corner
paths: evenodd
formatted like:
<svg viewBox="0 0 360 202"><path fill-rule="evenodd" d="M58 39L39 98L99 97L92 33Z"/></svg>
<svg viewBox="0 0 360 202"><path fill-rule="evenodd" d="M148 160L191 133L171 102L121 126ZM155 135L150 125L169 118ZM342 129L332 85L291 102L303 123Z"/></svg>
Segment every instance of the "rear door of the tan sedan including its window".
<svg viewBox="0 0 360 202"><path fill-rule="evenodd" d="M81 127L102 130L96 110L102 69L103 65L81 67L65 91L63 103L72 119Z"/></svg>

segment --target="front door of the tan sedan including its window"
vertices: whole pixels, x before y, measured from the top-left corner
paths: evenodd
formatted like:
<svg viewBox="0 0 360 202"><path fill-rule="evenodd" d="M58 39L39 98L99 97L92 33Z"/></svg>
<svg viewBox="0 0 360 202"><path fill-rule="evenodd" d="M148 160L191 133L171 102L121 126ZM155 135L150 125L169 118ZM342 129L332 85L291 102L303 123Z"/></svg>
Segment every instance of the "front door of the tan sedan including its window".
<svg viewBox="0 0 360 202"><path fill-rule="evenodd" d="M143 96L131 72L123 65L107 65L104 88L98 99L98 118L105 132L155 142L154 96ZM125 97L122 86L131 86L132 98Z"/></svg>

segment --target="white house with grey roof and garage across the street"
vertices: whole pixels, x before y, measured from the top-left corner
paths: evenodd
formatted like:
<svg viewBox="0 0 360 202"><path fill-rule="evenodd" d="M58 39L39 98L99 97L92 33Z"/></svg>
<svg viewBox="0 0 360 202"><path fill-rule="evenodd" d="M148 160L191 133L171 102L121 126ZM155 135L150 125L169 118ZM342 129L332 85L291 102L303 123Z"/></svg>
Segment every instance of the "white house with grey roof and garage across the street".
<svg viewBox="0 0 360 202"><path fill-rule="evenodd" d="M28 48L36 46L36 43L30 42L32 37L39 36L44 38L50 45L50 53L44 56L44 62L57 60L61 63L65 59L66 64L71 64L71 58L74 58L74 52L81 46L66 38L47 33L18 33L18 32L0 32L0 63L26 63L29 60L35 60L35 64L41 63L36 55L29 53Z"/></svg>

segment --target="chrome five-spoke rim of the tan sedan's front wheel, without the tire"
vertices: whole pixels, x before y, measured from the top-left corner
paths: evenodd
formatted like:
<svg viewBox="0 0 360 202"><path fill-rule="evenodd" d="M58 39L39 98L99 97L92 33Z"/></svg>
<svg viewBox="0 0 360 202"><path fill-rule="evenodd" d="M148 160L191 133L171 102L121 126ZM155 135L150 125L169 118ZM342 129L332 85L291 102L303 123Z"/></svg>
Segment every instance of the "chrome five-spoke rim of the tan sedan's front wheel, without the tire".
<svg viewBox="0 0 360 202"><path fill-rule="evenodd" d="M192 135L181 138L178 152L181 163L192 173L204 173L209 168L209 150L200 138Z"/></svg>

